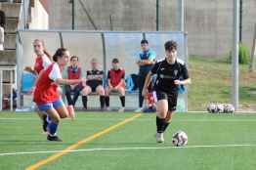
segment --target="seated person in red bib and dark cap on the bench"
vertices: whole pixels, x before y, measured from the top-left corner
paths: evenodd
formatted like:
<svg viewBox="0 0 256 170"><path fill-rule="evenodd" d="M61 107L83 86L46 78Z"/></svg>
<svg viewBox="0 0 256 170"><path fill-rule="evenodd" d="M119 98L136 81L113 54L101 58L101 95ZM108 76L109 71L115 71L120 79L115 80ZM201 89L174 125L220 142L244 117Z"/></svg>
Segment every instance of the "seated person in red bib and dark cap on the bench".
<svg viewBox="0 0 256 170"><path fill-rule="evenodd" d="M112 68L107 72L107 88L106 88L106 106L109 109L109 94L111 91L117 91L120 94L121 107L119 112L124 111L125 107L125 70L120 67L118 59L112 60Z"/></svg>

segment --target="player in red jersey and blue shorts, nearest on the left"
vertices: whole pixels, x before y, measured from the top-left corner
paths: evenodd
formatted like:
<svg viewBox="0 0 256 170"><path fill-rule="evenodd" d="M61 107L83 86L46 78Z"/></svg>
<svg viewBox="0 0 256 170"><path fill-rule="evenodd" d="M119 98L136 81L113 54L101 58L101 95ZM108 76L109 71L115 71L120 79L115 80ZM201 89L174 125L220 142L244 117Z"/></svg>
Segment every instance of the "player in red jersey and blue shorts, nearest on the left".
<svg viewBox="0 0 256 170"><path fill-rule="evenodd" d="M68 116L68 110L58 92L58 84L78 84L82 79L63 79L62 69L68 63L69 52L60 48L53 56L53 64L50 64L44 71L41 71L34 90L34 102L39 110L46 111L51 117L48 125L49 141L62 141L57 135L57 127L61 118Z"/></svg>

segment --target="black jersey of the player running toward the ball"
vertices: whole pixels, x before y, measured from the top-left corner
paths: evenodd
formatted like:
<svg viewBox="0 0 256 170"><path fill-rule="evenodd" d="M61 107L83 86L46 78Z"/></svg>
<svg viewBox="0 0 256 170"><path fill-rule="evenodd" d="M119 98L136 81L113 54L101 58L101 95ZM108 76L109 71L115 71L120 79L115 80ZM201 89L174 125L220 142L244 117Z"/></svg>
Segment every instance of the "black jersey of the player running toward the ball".
<svg viewBox="0 0 256 170"><path fill-rule="evenodd" d="M153 65L151 72L157 75L154 89L166 93L178 91L178 86L174 84L174 80L190 77L185 62L180 59L177 59L174 64L168 64L166 59L161 60Z"/></svg>

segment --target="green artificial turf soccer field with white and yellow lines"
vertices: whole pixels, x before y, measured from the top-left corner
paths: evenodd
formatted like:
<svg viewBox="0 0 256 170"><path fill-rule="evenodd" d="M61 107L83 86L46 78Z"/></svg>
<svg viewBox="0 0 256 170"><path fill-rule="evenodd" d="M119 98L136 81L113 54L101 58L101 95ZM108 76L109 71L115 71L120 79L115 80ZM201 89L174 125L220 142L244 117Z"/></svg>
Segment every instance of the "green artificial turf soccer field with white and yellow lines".
<svg viewBox="0 0 256 170"><path fill-rule="evenodd" d="M77 112L46 141L35 113L0 113L0 169L254 170L256 115L176 113L155 142L155 114ZM189 144L172 147L184 130ZM33 166L34 165L34 166ZM34 168L33 168L34 167Z"/></svg>

